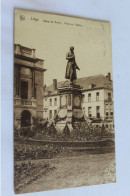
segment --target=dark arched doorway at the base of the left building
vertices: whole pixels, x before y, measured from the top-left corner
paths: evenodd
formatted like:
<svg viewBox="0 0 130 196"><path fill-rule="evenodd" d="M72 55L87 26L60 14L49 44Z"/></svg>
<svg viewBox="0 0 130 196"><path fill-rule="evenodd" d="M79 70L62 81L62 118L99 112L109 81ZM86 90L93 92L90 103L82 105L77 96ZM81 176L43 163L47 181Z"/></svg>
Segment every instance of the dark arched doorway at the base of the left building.
<svg viewBox="0 0 130 196"><path fill-rule="evenodd" d="M24 110L21 113L21 127L27 127L31 125L31 113L28 110Z"/></svg>

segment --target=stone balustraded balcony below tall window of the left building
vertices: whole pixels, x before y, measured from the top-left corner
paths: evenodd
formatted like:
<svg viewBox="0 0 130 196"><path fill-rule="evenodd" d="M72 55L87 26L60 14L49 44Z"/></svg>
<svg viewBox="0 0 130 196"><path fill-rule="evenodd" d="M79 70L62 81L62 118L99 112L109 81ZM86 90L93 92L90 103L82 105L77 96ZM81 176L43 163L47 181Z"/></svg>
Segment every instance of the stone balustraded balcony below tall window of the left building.
<svg viewBox="0 0 130 196"><path fill-rule="evenodd" d="M20 97L15 97L14 105L36 107L36 99L32 98L31 100L28 100L28 99L21 99Z"/></svg>

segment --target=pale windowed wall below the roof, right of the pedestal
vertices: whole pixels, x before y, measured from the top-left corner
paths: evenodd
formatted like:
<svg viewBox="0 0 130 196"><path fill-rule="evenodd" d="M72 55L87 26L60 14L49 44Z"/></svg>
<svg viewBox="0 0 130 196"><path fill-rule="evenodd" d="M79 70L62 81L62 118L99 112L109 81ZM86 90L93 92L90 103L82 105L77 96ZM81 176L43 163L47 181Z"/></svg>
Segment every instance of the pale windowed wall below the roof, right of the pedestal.
<svg viewBox="0 0 130 196"><path fill-rule="evenodd" d="M82 106L85 115L90 119L113 119L113 90L109 88L85 90Z"/></svg>

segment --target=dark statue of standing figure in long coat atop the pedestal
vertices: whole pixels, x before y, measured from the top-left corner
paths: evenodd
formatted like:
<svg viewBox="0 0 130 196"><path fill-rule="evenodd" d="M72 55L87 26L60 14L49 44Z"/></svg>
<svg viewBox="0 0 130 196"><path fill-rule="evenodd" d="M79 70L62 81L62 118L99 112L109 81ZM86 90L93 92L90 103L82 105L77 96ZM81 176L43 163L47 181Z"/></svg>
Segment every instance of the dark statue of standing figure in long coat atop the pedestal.
<svg viewBox="0 0 130 196"><path fill-rule="evenodd" d="M73 83L73 81L77 79L76 69L80 70L75 61L73 46L70 47L70 51L67 53L66 59L68 62L66 66L65 78L70 79L70 81Z"/></svg>

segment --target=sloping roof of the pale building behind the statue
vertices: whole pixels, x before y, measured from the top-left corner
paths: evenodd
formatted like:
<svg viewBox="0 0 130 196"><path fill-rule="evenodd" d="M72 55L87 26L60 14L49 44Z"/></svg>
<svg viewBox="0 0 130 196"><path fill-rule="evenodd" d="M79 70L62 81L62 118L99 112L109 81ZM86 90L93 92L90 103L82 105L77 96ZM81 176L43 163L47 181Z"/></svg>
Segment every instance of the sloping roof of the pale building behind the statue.
<svg viewBox="0 0 130 196"><path fill-rule="evenodd" d="M112 80L110 80L108 77L104 76L103 74L96 75L96 76L89 76L89 77L83 77L78 78L76 81L76 84L83 87L83 90L94 90L94 89L100 89L100 88L108 88L112 89ZM69 80L57 82L57 88L62 86L68 86ZM53 84L46 87L46 92L50 92L49 95L57 94L57 91L53 91Z"/></svg>

